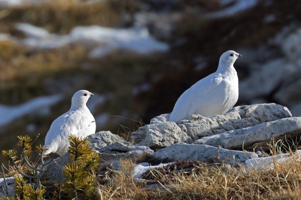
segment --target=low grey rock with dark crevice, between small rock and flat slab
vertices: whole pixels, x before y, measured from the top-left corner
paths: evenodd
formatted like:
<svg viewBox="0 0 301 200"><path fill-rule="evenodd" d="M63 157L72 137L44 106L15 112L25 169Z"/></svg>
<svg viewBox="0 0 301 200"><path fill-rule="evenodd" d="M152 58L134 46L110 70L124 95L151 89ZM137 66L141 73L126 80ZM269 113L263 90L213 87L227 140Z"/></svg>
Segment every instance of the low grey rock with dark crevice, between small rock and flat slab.
<svg viewBox="0 0 301 200"><path fill-rule="evenodd" d="M137 159L154 153L153 150L146 146L134 146L130 142L115 142L104 148L97 149L97 151L101 156L101 160L106 162L122 158Z"/></svg>

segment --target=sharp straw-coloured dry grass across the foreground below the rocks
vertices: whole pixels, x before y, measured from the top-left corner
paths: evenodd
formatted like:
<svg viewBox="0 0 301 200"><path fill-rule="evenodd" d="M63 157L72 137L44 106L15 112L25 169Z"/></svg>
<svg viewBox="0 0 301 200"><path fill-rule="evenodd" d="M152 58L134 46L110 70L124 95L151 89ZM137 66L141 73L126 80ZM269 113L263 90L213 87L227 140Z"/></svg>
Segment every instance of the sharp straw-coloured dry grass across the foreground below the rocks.
<svg viewBox="0 0 301 200"><path fill-rule="evenodd" d="M135 181L134 165L124 161L120 172L109 171L99 179L100 199L299 199L301 162L278 165L263 172L196 164L190 172L153 170L157 184ZM153 181L152 181L153 182Z"/></svg>

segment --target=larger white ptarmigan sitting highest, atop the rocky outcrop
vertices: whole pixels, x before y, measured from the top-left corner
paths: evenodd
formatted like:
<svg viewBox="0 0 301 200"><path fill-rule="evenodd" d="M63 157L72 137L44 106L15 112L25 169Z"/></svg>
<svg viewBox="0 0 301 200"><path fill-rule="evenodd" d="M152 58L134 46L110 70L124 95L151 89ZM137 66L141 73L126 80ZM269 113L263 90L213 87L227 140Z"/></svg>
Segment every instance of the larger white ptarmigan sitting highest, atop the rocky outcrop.
<svg viewBox="0 0 301 200"><path fill-rule="evenodd" d="M187 89L175 103L169 121L178 122L192 114L203 117L223 115L238 99L238 77L234 62L239 53L226 51L219 58L216 72Z"/></svg>

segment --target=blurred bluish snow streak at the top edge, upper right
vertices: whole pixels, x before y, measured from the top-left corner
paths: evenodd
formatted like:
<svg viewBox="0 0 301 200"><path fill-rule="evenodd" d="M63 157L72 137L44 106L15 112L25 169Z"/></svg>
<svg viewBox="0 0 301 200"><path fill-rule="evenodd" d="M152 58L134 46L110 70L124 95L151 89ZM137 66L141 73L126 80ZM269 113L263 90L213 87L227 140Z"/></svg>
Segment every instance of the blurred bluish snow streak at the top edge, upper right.
<svg viewBox="0 0 301 200"><path fill-rule="evenodd" d="M206 18L220 18L220 17L230 17L234 14L250 9L259 2L260 0L236 0L236 2L230 6L226 7L222 10L215 11L212 13L208 13L205 15ZM233 2L233 0L223 0L221 2L222 5L228 4L230 2Z"/></svg>

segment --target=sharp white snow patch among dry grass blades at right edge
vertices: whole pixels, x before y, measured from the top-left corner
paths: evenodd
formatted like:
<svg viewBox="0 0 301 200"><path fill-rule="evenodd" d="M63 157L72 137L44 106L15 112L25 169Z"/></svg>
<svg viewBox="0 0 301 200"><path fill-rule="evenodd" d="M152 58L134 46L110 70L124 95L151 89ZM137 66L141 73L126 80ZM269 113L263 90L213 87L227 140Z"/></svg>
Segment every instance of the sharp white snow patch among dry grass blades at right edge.
<svg viewBox="0 0 301 200"><path fill-rule="evenodd" d="M282 163L290 163L293 160L300 159L301 150L296 151L292 154L278 154L275 156L261 157L261 158L252 158L246 160L247 167L259 170L272 170L275 165L281 165Z"/></svg>

